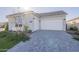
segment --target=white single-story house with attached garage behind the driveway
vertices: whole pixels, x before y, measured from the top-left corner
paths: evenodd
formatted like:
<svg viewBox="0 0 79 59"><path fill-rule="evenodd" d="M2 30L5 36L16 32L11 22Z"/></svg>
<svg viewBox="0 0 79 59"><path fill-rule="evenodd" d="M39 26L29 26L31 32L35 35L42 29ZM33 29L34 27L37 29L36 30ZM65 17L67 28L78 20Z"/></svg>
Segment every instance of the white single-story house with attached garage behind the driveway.
<svg viewBox="0 0 79 59"><path fill-rule="evenodd" d="M66 15L64 11L48 13L35 13L33 11L8 15L9 31L24 31L28 26L30 30L66 30Z"/></svg>

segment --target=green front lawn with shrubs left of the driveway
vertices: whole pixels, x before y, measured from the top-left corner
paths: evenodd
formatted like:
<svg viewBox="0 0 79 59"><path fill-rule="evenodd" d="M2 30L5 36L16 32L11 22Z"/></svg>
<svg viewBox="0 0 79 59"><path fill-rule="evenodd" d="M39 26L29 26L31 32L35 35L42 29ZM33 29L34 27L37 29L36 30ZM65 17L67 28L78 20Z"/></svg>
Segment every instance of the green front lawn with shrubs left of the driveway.
<svg viewBox="0 0 79 59"><path fill-rule="evenodd" d="M22 32L0 32L0 52L7 51L11 47L18 44L20 41L25 41L28 39L29 37Z"/></svg>

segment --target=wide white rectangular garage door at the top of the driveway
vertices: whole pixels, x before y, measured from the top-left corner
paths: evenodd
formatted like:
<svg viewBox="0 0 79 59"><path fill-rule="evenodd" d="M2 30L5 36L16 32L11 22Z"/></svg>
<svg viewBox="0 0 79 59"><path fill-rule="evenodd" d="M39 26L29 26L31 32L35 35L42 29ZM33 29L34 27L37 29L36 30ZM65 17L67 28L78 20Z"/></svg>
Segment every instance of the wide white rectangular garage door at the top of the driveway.
<svg viewBox="0 0 79 59"><path fill-rule="evenodd" d="M63 20L41 20L42 30L64 30Z"/></svg>

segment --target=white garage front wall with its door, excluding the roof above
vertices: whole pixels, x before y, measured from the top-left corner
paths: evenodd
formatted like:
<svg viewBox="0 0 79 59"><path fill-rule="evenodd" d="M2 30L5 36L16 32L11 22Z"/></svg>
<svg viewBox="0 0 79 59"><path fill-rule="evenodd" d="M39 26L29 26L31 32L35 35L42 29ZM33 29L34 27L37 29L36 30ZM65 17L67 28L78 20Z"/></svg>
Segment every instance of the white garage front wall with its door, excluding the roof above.
<svg viewBox="0 0 79 59"><path fill-rule="evenodd" d="M40 29L41 30L66 30L66 23L64 17L46 16L41 17Z"/></svg>

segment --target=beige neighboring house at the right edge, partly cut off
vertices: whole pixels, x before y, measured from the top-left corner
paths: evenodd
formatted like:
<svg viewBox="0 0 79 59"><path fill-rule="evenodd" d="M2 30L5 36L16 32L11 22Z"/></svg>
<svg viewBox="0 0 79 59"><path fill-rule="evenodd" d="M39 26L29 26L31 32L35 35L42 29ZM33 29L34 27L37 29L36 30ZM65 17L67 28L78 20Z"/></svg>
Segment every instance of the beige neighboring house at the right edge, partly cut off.
<svg viewBox="0 0 79 59"><path fill-rule="evenodd" d="M67 21L67 29L76 26L79 29L79 17Z"/></svg>

